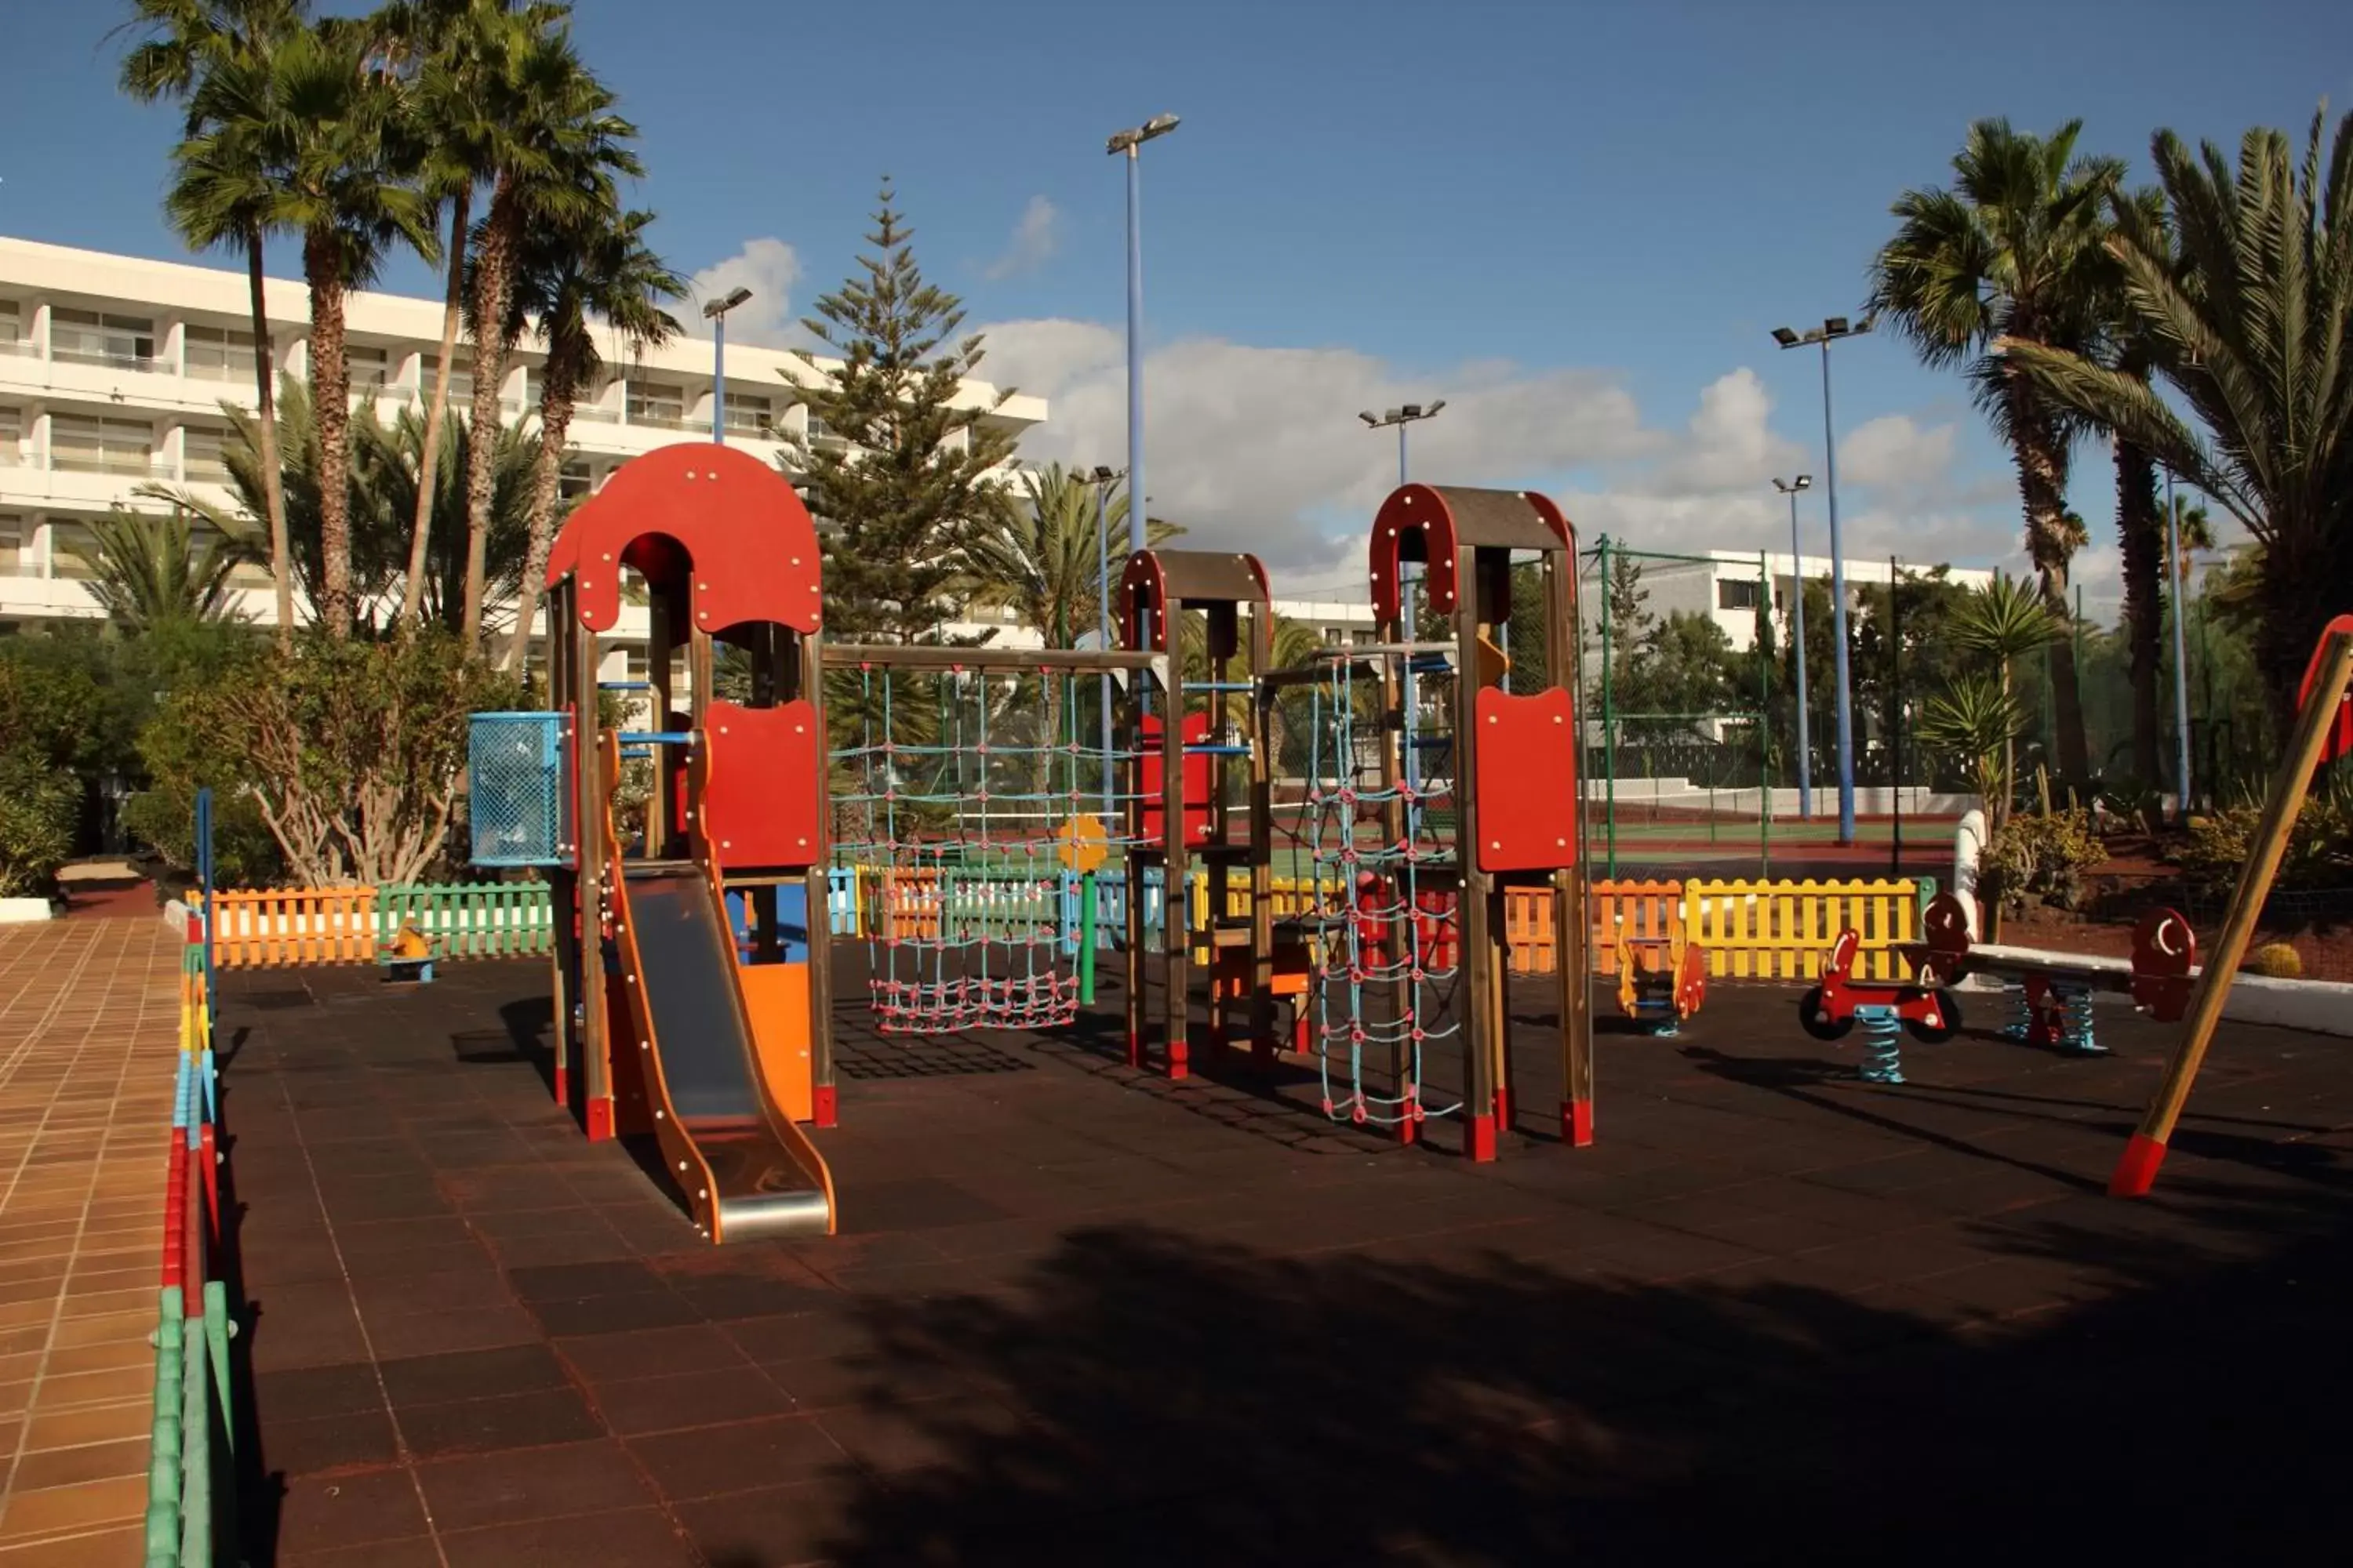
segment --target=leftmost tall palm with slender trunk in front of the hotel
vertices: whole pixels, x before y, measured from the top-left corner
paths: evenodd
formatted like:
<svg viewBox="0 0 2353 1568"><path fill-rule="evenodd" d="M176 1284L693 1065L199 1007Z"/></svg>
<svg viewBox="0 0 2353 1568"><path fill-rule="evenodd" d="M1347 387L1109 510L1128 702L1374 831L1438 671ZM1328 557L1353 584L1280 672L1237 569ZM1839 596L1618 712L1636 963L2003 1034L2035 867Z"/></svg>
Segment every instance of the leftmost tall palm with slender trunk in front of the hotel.
<svg viewBox="0 0 2353 1568"><path fill-rule="evenodd" d="M127 28L141 28L141 42L122 56L122 92L141 103L174 99L191 103L202 82L224 61L256 66L301 31L306 0L134 0ZM209 132L235 132L209 136ZM188 249L242 249L245 284L254 315L254 395L261 404L264 440L275 440L278 414L271 407L278 381L278 343L271 339L268 301L264 299L264 235L271 226L271 181L256 158L254 127L214 127L188 113L181 148L174 153L172 188L165 214ZM264 491L264 517L271 527L271 583L278 590L278 639L294 635L294 574L287 564L287 505L278 489L278 458L268 454L271 484Z"/></svg>

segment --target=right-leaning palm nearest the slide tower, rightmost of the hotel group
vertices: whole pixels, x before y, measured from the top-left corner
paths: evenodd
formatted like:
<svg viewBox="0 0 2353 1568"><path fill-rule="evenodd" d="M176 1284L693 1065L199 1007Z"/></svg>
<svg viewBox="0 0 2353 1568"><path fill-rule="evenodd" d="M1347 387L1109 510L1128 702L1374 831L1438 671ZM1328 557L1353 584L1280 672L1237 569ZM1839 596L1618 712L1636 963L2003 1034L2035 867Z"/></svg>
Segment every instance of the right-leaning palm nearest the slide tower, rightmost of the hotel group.
<svg viewBox="0 0 2353 1568"><path fill-rule="evenodd" d="M548 569L548 545L555 538L555 496L565 470L565 440L572 430L572 404L584 386L595 381L605 360L595 346L598 320L607 322L624 348L649 348L678 336L678 320L661 308L680 299L687 280L673 273L645 242L654 221L649 212L605 209L579 228L546 226L525 240L515 270L518 315L539 320L548 362L539 383L539 461L532 475L532 545L522 564L515 597L515 630L506 668L522 672L532 646L532 616L539 607L539 578Z"/></svg>

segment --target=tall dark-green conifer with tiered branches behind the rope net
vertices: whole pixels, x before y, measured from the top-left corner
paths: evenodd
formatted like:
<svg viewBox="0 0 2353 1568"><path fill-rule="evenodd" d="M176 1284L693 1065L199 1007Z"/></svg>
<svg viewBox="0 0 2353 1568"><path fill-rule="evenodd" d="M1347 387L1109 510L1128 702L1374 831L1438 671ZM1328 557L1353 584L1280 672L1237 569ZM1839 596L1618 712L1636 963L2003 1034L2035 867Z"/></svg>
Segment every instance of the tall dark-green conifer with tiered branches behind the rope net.
<svg viewBox="0 0 2353 1568"><path fill-rule="evenodd" d="M922 280L913 230L882 181L873 247L835 294L816 301L802 327L840 364L819 367L795 388L824 433L795 454L805 494L824 527L826 630L845 642L922 642L953 614L965 541L1002 527L1007 494L991 470L1014 437L986 416L991 404L958 404L981 367L981 339L958 339L962 301ZM962 440L955 440L962 437Z"/></svg>

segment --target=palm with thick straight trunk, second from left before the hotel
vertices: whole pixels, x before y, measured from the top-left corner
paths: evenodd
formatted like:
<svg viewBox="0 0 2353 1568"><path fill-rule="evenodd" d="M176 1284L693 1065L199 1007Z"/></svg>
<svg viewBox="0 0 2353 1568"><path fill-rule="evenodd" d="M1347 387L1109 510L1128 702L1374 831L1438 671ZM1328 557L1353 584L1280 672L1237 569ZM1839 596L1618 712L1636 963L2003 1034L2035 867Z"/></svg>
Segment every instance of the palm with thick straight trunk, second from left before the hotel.
<svg viewBox="0 0 2353 1568"><path fill-rule="evenodd" d="M249 158L268 188L266 223L301 235L320 442L318 618L329 637L344 637L353 618L344 296L376 275L393 242L438 256L431 207L400 169L398 94L369 49L362 28L325 19L285 38L268 61L221 63L191 103L214 129L184 143L198 160Z"/></svg>

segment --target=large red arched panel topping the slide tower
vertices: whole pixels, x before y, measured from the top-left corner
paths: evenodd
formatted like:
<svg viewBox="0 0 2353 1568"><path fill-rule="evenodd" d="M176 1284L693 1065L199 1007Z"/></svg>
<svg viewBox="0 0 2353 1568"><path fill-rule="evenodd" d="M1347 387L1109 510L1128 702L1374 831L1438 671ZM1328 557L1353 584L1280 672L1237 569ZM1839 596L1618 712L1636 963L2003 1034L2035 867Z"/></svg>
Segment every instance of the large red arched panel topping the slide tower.
<svg viewBox="0 0 2353 1568"><path fill-rule="evenodd" d="M736 447L656 447L614 470L548 552L548 583L574 574L579 618L621 618L621 564L649 581L685 574L694 630L774 621L814 632L824 618L816 524L769 463Z"/></svg>

